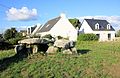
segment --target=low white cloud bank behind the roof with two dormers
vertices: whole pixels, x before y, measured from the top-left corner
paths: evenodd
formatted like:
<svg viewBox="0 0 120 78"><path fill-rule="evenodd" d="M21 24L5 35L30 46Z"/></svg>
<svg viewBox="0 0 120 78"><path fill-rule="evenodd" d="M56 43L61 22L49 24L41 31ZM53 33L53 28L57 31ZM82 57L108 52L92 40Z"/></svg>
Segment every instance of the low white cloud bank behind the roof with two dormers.
<svg viewBox="0 0 120 78"><path fill-rule="evenodd" d="M115 28L115 30L120 29L120 16L83 16L83 17L77 17L81 22L83 19L103 19L107 20L111 25Z"/></svg>

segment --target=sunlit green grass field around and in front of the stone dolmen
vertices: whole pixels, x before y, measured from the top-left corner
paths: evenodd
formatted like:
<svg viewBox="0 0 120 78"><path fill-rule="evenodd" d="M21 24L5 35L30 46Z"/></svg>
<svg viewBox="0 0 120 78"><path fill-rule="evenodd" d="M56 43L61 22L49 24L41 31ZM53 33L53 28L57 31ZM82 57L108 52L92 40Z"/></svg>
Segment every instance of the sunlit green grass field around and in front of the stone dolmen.
<svg viewBox="0 0 120 78"><path fill-rule="evenodd" d="M120 42L78 42L78 55L15 57L0 51L0 78L120 78Z"/></svg>

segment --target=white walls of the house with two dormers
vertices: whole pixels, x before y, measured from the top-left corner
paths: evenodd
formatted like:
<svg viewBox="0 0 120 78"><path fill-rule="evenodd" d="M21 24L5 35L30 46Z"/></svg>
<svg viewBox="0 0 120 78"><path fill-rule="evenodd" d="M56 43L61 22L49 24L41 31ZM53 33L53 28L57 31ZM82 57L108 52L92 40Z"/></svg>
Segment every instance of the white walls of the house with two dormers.
<svg viewBox="0 0 120 78"><path fill-rule="evenodd" d="M108 34L111 34L110 41L113 41L115 39L115 31L93 31L85 20L83 21L79 32L85 34L99 34L99 41L108 41Z"/></svg>

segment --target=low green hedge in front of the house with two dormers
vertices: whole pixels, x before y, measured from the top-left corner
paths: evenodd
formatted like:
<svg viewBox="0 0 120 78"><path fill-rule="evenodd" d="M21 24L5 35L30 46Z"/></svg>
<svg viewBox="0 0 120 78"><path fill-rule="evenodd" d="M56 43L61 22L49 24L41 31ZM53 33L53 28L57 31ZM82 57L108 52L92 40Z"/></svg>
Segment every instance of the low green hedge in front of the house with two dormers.
<svg viewBox="0 0 120 78"><path fill-rule="evenodd" d="M95 34L80 34L78 36L79 41L97 41L98 36Z"/></svg>

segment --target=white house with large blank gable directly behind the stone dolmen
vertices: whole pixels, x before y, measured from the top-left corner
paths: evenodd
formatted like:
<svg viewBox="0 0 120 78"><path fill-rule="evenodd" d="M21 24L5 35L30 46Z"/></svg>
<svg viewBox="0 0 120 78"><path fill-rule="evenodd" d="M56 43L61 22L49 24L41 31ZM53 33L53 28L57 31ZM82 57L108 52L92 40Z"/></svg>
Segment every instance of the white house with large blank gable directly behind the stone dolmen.
<svg viewBox="0 0 120 78"><path fill-rule="evenodd" d="M36 34L41 36L51 34L53 37L61 36L69 38L69 40L77 40L77 30L69 22L65 14L49 20Z"/></svg>

